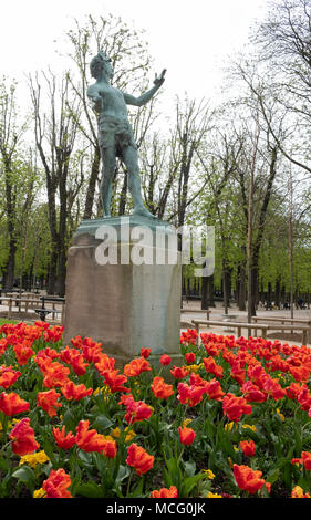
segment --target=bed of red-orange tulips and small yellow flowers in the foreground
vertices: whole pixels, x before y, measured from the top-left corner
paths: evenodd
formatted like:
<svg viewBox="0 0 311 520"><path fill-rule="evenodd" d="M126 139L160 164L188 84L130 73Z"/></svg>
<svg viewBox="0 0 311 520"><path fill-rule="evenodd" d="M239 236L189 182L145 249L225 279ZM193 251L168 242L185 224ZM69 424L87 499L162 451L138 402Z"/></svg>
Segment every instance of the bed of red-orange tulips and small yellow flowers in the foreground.
<svg viewBox="0 0 311 520"><path fill-rule="evenodd" d="M310 498L311 353L182 333L120 371L92 339L0 327L0 498Z"/></svg>

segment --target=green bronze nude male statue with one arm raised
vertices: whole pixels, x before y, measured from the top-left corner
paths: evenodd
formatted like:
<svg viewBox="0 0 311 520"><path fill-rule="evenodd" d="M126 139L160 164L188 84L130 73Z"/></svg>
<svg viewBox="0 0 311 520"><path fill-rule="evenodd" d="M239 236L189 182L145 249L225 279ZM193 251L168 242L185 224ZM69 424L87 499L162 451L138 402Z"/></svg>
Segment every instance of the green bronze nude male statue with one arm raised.
<svg viewBox="0 0 311 520"><path fill-rule="evenodd" d="M103 165L101 199L104 216L111 216L115 159L120 157L127 169L128 188L134 202L133 215L155 218L143 202L137 146L128 122L126 105L145 105L163 84L166 71L164 70L159 77L155 76L154 86L149 91L135 97L111 85L113 67L111 60L102 51L93 58L90 69L91 75L96 79L96 82L89 86L87 96L99 114L99 142Z"/></svg>

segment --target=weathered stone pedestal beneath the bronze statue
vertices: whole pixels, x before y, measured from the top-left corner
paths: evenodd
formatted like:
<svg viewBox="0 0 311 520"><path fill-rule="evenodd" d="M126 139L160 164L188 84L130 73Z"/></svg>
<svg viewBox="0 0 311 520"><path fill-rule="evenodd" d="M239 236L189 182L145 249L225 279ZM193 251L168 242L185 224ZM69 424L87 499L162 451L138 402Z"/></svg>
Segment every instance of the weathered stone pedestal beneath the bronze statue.
<svg viewBox="0 0 311 520"><path fill-rule="evenodd" d="M84 220L68 256L64 344L76 335L101 341L120 367L142 347L152 350L155 364L162 354L179 364L182 266L175 243L175 231L156 219Z"/></svg>

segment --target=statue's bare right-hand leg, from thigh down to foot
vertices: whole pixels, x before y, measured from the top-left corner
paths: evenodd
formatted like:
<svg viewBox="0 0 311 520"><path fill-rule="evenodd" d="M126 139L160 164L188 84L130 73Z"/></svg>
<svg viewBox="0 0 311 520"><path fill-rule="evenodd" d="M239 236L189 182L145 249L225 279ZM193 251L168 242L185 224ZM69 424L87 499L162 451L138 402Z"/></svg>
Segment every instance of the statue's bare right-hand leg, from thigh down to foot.
<svg viewBox="0 0 311 520"><path fill-rule="evenodd" d="M123 150L123 160L128 175L128 189L134 202L133 215L142 215L143 217L156 218L144 206L142 198L142 187L138 167L138 154L136 148L127 146Z"/></svg>

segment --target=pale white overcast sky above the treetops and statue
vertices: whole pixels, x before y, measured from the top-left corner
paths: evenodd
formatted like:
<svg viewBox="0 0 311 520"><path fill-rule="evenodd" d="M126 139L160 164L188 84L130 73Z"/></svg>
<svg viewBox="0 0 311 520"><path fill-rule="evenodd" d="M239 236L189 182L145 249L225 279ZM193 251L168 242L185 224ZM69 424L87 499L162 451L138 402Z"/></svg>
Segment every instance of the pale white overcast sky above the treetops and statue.
<svg viewBox="0 0 311 520"><path fill-rule="evenodd" d="M155 71L167 69L164 96L210 98L228 55L247 43L268 0L12 0L1 4L1 74L55 70L60 40L73 19L112 13L144 29ZM151 76L151 82L154 74Z"/></svg>

